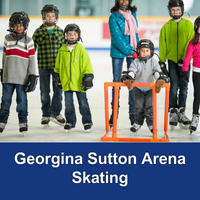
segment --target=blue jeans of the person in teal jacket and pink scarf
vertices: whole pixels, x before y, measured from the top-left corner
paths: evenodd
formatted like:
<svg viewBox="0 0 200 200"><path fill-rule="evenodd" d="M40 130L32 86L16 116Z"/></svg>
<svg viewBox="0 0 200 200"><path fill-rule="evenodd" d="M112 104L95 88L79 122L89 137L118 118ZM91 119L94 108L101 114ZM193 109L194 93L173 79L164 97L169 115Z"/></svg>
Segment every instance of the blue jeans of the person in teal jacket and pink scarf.
<svg viewBox="0 0 200 200"><path fill-rule="evenodd" d="M130 68L131 63L134 58L126 58L127 62L127 70ZM113 69L113 82L121 82L121 74L122 74L122 65L124 58L112 58L112 69ZM119 91L120 97L120 91ZM134 88L129 92L129 114L135 114L135 100L134 100ZM118 99L118 107L119 107L119 99ZM112 102L111 108L114 108L114 88L112 88Z"/></svg>

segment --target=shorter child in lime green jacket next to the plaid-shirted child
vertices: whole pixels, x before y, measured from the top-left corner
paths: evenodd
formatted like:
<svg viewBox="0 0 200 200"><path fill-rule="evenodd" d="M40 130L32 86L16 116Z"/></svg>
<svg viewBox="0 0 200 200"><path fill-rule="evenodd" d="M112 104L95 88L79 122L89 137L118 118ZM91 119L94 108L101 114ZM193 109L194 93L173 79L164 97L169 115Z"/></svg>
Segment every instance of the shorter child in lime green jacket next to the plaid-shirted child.
<svg viewBox="0 0 200 200"><path fill-rule="evenodd" d="M57 87L62 87L65 95L66 132L72 132L76 125L73 93L76 93L82 123L87 132L91 131L92 117L86 97L86 90L92 87L93 69L85 48L77 43L81 31L76 24L68 24L64 35L66 43L58 51L54 80Z"/></svg>

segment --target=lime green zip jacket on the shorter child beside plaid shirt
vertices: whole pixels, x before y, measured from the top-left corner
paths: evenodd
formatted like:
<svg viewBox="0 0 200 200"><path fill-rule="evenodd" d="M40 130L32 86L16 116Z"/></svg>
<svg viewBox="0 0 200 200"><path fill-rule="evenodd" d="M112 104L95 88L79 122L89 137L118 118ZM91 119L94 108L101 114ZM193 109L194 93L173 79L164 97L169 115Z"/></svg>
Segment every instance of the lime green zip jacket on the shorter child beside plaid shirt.
<svg viewBox="0 0 200 200"><path fill-rule="evenodd" d="M59 73L63 91L85 92L81 89L83 77L85 74L93 74L90 57L79 43L72 52L67 44L59 49L54 71Z"/></svg>

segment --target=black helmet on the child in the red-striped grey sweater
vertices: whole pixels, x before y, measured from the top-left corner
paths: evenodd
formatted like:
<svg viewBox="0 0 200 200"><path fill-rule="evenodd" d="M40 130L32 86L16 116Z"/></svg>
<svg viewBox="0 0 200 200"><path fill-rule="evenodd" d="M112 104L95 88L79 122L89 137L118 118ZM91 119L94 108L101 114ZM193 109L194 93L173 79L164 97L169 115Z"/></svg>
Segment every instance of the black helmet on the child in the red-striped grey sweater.
<svg viewBox="0 0 200 200"><path fill-rule="evenodd" d="M29 22L30 22L30 19L26 12L23 12L23 11L22 12L14 12L9 19L9 30L8 31L16 33L14 30L14 24L23 24L24 34L25 34L28 29Z"/></svg>

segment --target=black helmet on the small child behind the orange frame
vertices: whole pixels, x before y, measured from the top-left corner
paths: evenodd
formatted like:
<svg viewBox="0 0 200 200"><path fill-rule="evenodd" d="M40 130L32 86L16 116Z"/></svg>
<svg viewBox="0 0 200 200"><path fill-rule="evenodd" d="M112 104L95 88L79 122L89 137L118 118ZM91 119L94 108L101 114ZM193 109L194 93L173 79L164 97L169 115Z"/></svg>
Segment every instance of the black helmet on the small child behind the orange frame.
<svg viewBox="0 0 200 200"><path fill-rule="evenodd" d="M141 48L150 48L151 50L151 55L150 56L146 56L146 57L140 57L140 49ZM140 60L148 60L149 58L153 57L154 54L154 44L151 40L148 39L142 39L137 43L137 55L139 56L138 58Z"/></svg>

